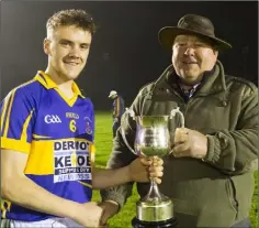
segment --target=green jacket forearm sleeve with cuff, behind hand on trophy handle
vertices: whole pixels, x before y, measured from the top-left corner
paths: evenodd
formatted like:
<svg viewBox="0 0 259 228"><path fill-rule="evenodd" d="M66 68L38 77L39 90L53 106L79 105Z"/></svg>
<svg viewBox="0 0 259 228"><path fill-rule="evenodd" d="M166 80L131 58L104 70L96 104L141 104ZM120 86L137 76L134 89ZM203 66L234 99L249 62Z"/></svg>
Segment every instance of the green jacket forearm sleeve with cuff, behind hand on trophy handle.
<svg viewBox="0 0 259 228"><path fill-rule="evenodd" d="M258 131L256 129L221 131L209 135L205 162L226 174L248 172L258 159Z"/></svg>

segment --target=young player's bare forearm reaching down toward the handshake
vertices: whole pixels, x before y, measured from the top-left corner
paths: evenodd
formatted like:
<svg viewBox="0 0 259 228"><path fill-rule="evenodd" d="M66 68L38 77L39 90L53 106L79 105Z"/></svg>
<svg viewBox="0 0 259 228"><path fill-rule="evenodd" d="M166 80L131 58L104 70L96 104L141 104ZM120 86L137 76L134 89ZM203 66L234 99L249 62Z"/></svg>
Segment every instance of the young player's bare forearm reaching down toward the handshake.
<svg viewBox="0 0 259 228"><path fill-rule="evenodd" d="M1 184L2 198L29 209L71 219L75 218L75 213L80 209L78 203L47 192L26 176L9 180L5 184L2 180Z"/></svg>

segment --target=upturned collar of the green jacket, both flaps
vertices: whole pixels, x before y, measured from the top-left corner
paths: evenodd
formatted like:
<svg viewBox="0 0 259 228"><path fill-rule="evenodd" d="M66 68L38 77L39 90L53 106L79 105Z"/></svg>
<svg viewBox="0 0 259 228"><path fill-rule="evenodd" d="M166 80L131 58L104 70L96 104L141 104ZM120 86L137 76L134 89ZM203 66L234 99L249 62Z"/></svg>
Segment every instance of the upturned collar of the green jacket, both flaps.
<svg viewBox="0 0 259 228"><path fill-rule="evenodd" d="M169 89L171 87L173 89L178 87L176 73L172 65L168 66L161 76L155 82L154 90L156 91L161 88ZM217 61L212 72L204 73L202 85L196 91L196 95L204 96L209 94L217 94L223 90L226 90L225 74L222 63Z"/></svg>

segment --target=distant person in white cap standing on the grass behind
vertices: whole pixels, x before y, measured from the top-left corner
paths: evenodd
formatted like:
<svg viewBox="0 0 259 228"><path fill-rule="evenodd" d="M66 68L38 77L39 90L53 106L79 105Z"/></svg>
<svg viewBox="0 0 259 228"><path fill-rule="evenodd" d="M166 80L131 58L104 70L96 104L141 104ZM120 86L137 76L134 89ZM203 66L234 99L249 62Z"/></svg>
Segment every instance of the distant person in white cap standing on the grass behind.
<svg viewBox="0 0 259 228"><path fill-rule="evenodd" d="M122 115L124 113L124 99L122 96L120 96L115 90L111 90L109 94L109 98L113 100L112 104L112 119L113 119L113 126L112 126L112 132L113 132L113 138L116 135L116 131L121 124L121 118Z"/></svg>

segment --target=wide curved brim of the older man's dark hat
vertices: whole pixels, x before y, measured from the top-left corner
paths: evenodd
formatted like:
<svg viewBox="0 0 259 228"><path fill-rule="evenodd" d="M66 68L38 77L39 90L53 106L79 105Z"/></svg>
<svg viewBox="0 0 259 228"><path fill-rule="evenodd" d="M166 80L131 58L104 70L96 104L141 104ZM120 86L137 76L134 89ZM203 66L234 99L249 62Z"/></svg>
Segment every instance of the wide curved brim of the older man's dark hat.
<svg viewBox="0 0 259 228"><path fill-rule="evenodd" d="M227 43L226 41L223 41L218 37L215 36L210 36L193 30L188 30L188 29L181 29L178 26L165 26L162 28L159 33L158 33L158 40L160 44L166 48L166 50L172 50L172 44L178 35L183 35L183 34L191 34L191 35L198 35L202 39L207 40L212 44L215 45L217 50L229 50L232 48L232 45Z"/></svg>

